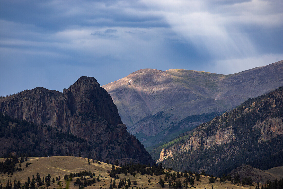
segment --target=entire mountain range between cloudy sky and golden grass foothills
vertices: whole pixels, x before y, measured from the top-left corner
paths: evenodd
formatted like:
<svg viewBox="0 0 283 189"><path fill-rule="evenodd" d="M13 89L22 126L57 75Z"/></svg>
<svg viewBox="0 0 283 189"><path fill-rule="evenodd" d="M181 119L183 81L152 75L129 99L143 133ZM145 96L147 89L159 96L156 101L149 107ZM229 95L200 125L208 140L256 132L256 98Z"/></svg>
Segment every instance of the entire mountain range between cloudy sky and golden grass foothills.
<svg viewBox="0 0 283 189"><path fill-rule="evenodd" d="M0 156L266 170L283 163L282 73L283 61L231 75L142 69L104 86L83 76L62 92L0 97Z"/></svg>

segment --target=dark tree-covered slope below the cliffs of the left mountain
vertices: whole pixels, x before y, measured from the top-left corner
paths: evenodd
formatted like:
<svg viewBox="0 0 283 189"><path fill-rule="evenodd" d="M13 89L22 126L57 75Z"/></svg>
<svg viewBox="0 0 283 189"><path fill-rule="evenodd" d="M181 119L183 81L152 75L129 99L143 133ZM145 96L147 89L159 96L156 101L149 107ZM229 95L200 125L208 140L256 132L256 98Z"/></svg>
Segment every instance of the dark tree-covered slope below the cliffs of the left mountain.
<svg viewBox="0 0 283 189"><path fill-rule="evenodd" d="M50 126L37 125L24 120L11 118L0 113L0 154L3 157L13 154L36 156L73 155L83 157L95 152L93 145L85 139L58 131Z"/></svg>

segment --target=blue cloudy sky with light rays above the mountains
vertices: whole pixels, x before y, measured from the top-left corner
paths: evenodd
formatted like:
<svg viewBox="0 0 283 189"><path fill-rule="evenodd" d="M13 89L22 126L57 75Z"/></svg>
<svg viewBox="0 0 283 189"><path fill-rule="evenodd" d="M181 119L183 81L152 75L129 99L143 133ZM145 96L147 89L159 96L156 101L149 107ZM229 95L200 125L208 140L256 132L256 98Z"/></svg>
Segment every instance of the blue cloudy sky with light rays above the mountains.
<svg viewBox="0 0 283 189"><path fill-rule="evenodd" d="M0 95L143 68L231 74L283 60L282 0L0 0Z"/></svg>

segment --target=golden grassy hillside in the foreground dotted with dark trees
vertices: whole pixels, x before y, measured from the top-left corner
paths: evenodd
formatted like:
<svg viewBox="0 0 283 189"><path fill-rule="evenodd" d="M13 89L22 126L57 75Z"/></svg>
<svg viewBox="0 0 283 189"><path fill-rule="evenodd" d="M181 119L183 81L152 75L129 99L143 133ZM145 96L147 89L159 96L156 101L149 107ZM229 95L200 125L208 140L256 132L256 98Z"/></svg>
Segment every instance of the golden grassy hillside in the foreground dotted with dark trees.
<svg viewBox="0 0 283 189"><path fill-rule="evenodd" d="M1 159L3 161L4 159ZM111 179L113 180L112 177L109 176L108 170L111 170L112 165L108 165L107 163L101 162L101 164L98 163L93 163L91 159L90 164L88 164L88 159L87 158L80 158L80 157L67 157L67 156L53 156L53 157L29 157L28 161L31 163L28 167L25 167L25 163L22 163L22 170L21 172L14 172L13 175L7 175L7 173L1 173L0 175L0 180L1 184L4 186L4 184L7 183L7 180L11 180L12 182L16 178L16 180L21 180L22 184L27 180L27 177L32 178L33 175L36 176L37 173L40 174L41 177L45 177L48 173L51 175L51 180L52 178L61 177L61 182L62 182L62 187L66 187L66 182L64 181L64 175L67 174L69 175L70 173L74 172L80 172L80 171L91 171L95 173L94 177L99 176L100 181L96 182L94 184L91 184L90 186L86 186L84 188L109 188L110 186L110 181ZM16 166L19 166L19 163L16 164ZM164 170L168 171L168 170ZM170 171L171 173L174 173L174 171ZM131 182L134 182L135 180L137 181L137 184L131 184L130 188L161 188L161 186L158 184L159 179L164 180L165 175L141 175L140 173L136 173L135 176L130 175L130 173L125 176L124 173L118 174L119 178L121 179L130 179ZM195 175L194 175L195 176ZM80 177L78 177L80 178ZM75 181L77 178L73 178L73 181ZM87 180L91 179L89 176L86 177ZM148 182L148 179L151 180L151 183ZM177 178L175 181L180 180L181 183L183 184L183 180L185 179L184 176ZM119 182L119 179L115 179L116 183ZM165 186L164 188L169 188L168 187L168 181L165 181ZM220 183L219 178L218 180L210 184L208 181L207 176L201 175L200 181L197 181L196 179L194 180L194 185L192 188L202 188L202 189L223 189L223 188L249 188L249 186L237 186L237 184L231 184L230 181L227 181L226 183ZM190 186L190 185L189 185ZM41 188L59 188L59 185L57 184L57 181L52 183L49 187L46 185L40 186ZM77 186L73 185L73 182L70 182L70 188L78 188ZM124 187L122 187L124 188ZM251 188L255 188L255 186L251 186Z"/></svg>

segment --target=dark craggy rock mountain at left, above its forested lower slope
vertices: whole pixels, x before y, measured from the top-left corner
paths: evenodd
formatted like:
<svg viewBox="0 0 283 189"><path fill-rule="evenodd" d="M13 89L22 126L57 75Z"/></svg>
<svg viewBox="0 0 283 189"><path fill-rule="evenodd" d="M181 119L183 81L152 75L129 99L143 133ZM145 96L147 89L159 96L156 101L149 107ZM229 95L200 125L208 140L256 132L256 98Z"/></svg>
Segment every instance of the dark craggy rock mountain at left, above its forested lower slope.
<svg viewBox="0 0 283 189"><path fill-rule="evenodd" d="M37 87L2 98L0 111L84 139L94 149L88 155L91 158L152 163L143 145L127 133L110 95L93 77L80 77L62 93ZM71 153L68 148L65 151ZM80 151L73 153L78 156Z"/></svg>

